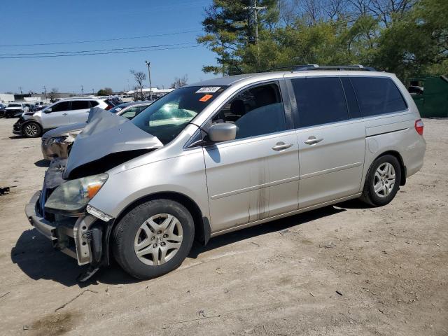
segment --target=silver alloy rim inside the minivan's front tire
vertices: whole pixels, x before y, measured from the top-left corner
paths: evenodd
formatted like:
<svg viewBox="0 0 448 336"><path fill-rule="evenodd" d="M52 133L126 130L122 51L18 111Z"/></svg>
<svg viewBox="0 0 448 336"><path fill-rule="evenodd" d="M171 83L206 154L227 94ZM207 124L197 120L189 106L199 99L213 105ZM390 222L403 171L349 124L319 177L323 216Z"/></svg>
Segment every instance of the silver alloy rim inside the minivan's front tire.
<svg viewBox="0 0 448 336"><path fill-rule="evenodd" d="M140 225L134 239L134 251L144 264L162 265L179 251L182 235L179 219L169 214L157 214Z"/></svg>

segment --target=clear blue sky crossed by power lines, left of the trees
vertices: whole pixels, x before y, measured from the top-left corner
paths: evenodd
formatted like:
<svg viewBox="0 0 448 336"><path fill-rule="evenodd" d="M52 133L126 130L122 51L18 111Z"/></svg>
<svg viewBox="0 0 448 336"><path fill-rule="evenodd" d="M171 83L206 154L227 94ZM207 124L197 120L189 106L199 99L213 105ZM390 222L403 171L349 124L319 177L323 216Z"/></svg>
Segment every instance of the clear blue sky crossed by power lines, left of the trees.
<svg viewBox="0 0 448 336"><path fill-rule="evenodd" d="M2 1L0 54L103 50L149 45L195 43L202 33L200 22L211 0L16 0ZM128 38L94 43L14 46L31 43L58 43ZM177 47L176 45L175 47ZM188 46L188 45L179 45ZM165 47L167 48L167 47ZM170 47L172 48L172 47ZM0 57L2 57L0 55ZM146 71L151 62L153 86L168 87L174 77L188 75L188 83L211 78L202 72L204 64L215 64L213 52L203 46L172 50L130 52L75 57L0 59L0 92L43 92L57 87L59 92L92 92L102 87L132 89L130 69ZM148 80L146 80L148 85Z"/></svg>

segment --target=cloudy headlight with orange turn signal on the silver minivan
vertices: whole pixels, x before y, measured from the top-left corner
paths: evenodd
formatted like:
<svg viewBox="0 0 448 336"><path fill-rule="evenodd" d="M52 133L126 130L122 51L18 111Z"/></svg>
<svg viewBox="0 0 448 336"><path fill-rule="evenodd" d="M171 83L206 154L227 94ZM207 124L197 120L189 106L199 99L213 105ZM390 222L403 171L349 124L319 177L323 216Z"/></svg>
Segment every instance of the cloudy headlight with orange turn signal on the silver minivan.
<svg viewBox="0 0 448 336"><path fill-rule="evenodd" d="M97 195L108 177L108 174L99 174L62 183L48 197L45 210L73 216L83 214L87 203Z"/></svg>

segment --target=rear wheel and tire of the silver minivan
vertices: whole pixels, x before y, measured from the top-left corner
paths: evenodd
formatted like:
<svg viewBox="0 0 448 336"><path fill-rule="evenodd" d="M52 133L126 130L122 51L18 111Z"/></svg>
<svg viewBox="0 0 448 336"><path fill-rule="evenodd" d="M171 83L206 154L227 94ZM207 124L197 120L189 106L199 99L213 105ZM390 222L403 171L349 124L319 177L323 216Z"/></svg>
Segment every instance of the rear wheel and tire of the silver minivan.
<svg viewBox="0 0 448 336"><path fill-rule="evenodd" d="M400 188L401 167L393 155L383 155L374 160L365 178L363 202L381 207L397 195Z"/></svg>

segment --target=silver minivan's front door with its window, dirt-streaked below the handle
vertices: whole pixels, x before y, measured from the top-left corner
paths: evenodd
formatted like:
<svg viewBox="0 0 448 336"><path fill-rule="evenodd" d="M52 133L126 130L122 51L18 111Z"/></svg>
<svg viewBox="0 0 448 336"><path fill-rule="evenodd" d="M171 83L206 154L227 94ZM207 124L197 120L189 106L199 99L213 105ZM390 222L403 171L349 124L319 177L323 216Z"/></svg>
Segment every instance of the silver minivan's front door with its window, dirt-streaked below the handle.
<svg viewBox="0 0 448 336"><path fill-rule="evenodd" d="M237 138L204 147L212 231L297 210L297 137L278 83L237 94L211 120L223 122L237 125Z"/></svg>

